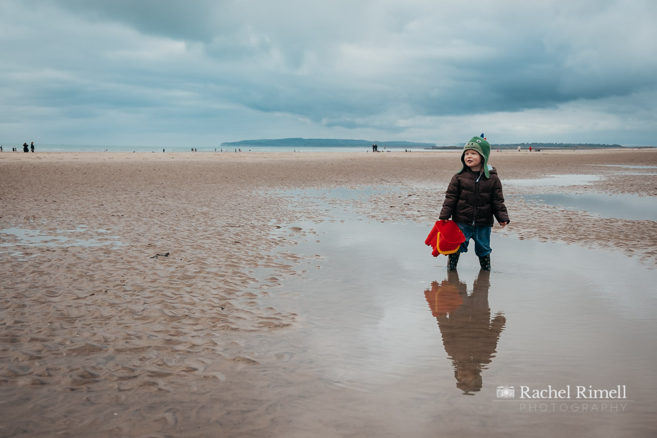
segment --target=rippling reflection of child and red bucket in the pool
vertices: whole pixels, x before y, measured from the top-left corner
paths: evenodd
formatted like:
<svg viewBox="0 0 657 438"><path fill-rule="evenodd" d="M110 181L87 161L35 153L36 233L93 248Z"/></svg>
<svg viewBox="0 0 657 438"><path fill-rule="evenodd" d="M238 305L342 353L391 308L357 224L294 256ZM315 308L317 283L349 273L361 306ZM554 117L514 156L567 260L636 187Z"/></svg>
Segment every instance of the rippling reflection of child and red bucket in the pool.
<svg viewBox="0 0 657 438"><path fill-rule="evenodd" d="M495 356L497 340L507 322L501 312L490 318L489 278L489 271L480 271L468 295L459 274L448 272L446 280L432 281L431 289L424 291L431 314L438 320L447 357L452 360L456 386L464 395L482 389L482 370Z"/></svg>

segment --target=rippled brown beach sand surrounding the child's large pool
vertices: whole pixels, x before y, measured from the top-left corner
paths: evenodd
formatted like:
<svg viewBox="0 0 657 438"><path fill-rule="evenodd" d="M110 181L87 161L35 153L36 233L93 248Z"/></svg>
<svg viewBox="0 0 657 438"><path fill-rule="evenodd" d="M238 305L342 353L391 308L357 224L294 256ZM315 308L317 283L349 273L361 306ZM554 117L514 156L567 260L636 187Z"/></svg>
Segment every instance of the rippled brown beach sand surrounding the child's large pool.
<svg viewBox="0 0 657 438"><path fill-rule="evenodd" d="M276 191L378 187L344 207L430 228L459 155L1 153L0 436L281 436L282 400L302 403L325 382L292 347L265 347L306 318L277 308L273 291L321 268L323 254L294 252L316 238L296 222L340 218ZM654 202L657 149L493 151L490 163L503 183L600 178L505 185L511 224L498 235L622 251L656 266L656 222L525 196ZM262 268L274 274L262 278Z"/></svg>

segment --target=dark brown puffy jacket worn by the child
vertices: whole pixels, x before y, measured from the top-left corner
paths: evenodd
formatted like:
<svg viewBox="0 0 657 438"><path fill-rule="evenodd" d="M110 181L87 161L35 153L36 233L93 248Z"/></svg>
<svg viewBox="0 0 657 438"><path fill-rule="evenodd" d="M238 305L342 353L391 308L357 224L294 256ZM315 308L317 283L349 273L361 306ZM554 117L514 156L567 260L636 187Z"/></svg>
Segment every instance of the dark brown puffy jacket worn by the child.
<svg viewBox="0 0 657 438"><path fill-rule="evenodd" d="M440 219L451 219L468 225L493 225L493 215L497 222L509 222L507 206L504 205L502 183L497 170L489 170L489 178L479 172L464 168L455 174L440 210Z"/></svg>

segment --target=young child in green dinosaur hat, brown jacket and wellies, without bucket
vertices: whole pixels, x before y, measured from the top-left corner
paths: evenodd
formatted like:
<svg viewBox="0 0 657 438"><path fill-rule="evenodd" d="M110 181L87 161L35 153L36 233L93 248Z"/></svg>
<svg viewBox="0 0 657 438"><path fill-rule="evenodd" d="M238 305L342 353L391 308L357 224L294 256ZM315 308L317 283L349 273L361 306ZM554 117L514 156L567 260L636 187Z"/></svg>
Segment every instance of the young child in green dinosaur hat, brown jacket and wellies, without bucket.
<svg viewBox="0 0 657 438"><path fill-rule="evenodd" d="M461 253L468 252L470 239L474 240L474 253L479 257L483 270L491 269L491 228L493 216L504 228L509 224L507 206L504 205L502 183L497 170L488 165L491 146L484 138L472 137L463 148L461 163L445 191L445 201L438 218L452 218L465 235L459 251L448 255L447 270L456 270Z"/></svg>

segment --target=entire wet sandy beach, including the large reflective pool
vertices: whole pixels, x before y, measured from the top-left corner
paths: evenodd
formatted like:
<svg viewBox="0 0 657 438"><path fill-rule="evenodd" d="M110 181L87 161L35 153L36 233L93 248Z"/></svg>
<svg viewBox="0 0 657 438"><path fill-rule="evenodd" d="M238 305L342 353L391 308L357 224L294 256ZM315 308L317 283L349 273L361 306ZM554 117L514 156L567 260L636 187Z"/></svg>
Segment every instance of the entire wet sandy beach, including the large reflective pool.
<svg viewBox="0 0 657 438"><path fill-rule="evenodd" d="M423 245L459 155L0 154L0 435L649 436L656 222L528 196L654 203L657 151L493 151L503 183L600 179L505 185L487 278Z"/></svg>

